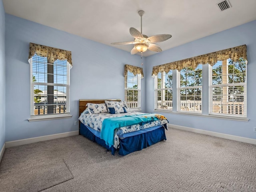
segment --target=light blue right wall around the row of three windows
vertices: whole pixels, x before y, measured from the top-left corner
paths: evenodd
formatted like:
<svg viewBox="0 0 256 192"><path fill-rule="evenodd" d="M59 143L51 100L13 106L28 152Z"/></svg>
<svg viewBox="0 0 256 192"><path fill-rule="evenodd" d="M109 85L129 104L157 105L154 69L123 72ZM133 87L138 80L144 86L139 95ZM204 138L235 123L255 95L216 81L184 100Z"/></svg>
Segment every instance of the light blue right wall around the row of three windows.
<svg viewBox="0 0 256 192"><path fill-rule="evenodd" d="M175 113L164 113L170 124L208 130L235 136L256 139L256 20L189 42L182 46L166 50L159 54L155 54L146 58L146 111L154 112L154 78L152 75L152 67L174 62L193 56L198 56L226 48L247 45L247 117L248 122L223 120L217 118L208 118L202 116L188 116ZM188 32L189 35L189 32ZM175 38L175 37L172 37ZM171 39L169 40L172 43ZM206 69L206 70L204 70ZM208 64L203 66L203 114L208 114ZM205 81L206 80L206 81ZM176 84L176 80L174 83ZM205 92L206 91L206 92ZM176 101L176 90L174 89L174 101ZM174 106L176 108L176 105Z"/></svg>

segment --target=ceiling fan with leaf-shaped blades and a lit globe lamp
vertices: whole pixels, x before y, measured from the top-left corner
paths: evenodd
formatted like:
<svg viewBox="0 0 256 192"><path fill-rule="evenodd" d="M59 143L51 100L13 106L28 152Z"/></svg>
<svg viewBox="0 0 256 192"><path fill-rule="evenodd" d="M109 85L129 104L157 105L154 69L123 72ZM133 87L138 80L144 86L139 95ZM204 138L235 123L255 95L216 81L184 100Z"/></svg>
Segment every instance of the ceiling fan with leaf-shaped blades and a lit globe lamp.
<svg viewBox="0 0 256 192"><path fill-rule="evenodd" d="M160 35L153 35L153 36L146 36L142 34L142 15L145 12L140 10L138 12L140 16L140 31L138 31L136 28L131 27L130 28L130 34L134 37L134 41L131 42L115 42L111 43L114 45L128 45L128 44L134 44L134 48L131 51L131 54L136 54L137 52L145 52L146 50L155 51L155 52L161 52L162 49L157 44L154 44L156 42L163 42L165 40L168 40L172 37L172 35L169 34L160 34Z"/></svg>

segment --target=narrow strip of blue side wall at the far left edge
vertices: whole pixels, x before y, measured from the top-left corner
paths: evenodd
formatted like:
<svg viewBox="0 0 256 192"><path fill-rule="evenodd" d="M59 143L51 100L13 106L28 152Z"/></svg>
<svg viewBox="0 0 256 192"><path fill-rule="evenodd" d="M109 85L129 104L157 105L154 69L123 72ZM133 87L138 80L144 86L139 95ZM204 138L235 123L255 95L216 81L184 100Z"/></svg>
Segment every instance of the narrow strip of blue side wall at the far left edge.
<svg viewBox="0 0 256 192"><path fill-rule="evenodd" d="M5 14L0 0L0 151L5 142Z"/></svg>

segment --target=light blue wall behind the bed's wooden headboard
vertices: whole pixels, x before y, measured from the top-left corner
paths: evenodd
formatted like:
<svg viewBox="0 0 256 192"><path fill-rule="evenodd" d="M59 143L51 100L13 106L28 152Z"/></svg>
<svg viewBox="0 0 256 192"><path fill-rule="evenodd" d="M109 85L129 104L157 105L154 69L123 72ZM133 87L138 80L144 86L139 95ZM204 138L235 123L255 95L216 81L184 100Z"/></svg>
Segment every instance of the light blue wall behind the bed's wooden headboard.
<svg viewBox="0 0 256 192"><path fill-rule="evenodd" d="M9 14L6 18L6 142L78 130L79 99L124 100L124 65L141 66L140 56ZM29 42L70 50L72 118L28 122L30 118ZM145 67L145 66L143 66ZM2 67L1 67L2 68ZM145 79L145 78L144 78ZM142 98L145 80L142 79ZM142 111L145 100L142 99Z"/></svg>

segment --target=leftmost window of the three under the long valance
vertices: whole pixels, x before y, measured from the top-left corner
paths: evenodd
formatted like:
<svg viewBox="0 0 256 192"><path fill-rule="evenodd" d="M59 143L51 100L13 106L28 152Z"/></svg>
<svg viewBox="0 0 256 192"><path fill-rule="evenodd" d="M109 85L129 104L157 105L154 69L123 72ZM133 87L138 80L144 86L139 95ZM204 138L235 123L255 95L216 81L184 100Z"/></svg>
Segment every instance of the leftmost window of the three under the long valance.
<svg viewBox="0 0 256 192"><path fill-rule="evenodd" d="M155 109L172 110L172 70L155 78Z"/></svg>

